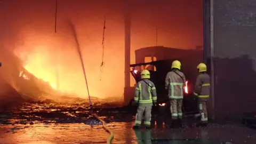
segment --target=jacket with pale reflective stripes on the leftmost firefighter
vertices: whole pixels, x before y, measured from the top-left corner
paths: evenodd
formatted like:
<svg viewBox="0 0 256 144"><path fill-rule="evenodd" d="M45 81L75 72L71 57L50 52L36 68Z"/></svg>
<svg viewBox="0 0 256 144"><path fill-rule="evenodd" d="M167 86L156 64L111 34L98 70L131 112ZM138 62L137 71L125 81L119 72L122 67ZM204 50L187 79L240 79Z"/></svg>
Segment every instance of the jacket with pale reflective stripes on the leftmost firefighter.
<svg viewBox="0 0 256 144"><path fill-rule="evenodd" d="M153 106L156 100L156 87L153 82L143 79L136 84L134 101L139 102L139 106Z"/></svg>

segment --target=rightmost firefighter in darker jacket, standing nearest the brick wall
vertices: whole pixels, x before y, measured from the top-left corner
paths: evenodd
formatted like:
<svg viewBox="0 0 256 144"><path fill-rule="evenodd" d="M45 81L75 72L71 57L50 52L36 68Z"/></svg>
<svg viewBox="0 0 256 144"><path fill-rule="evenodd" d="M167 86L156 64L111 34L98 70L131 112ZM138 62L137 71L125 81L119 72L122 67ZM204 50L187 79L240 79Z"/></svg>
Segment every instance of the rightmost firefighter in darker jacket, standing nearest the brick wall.
<svg viewBox="0 0 256 144"><path fill-rule="evenodd" d="M207 116L207 101L210 96L210 82L211 78L206 74L207 67L204 63L197 66L199 75L196 78L194 94L198 97L198 107L201 114L201 123L198 126L206 126L208 122Z"/></svg>

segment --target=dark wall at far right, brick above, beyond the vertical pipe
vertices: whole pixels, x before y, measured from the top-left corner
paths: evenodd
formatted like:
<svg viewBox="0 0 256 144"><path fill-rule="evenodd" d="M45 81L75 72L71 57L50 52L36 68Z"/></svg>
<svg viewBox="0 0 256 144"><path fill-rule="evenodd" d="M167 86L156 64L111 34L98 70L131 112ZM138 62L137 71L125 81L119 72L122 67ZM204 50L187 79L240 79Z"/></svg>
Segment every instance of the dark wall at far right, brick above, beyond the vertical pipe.
<svg viewBox="0 0 256 144"><path fill-rule="evenodd" d="M255 112L256 1L213 1L215 116Z"/></svg>

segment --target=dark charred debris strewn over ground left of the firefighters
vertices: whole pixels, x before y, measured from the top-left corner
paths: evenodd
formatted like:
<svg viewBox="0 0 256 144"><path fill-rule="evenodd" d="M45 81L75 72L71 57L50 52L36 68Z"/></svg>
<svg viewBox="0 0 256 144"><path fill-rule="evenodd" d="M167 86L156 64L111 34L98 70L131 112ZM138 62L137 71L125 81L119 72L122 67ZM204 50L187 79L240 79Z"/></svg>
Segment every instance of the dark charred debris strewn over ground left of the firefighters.
<svg viewBox="0 0 256 144"><path fill-rule="evenodd" d="M97 118L91 116L87 100L69 99L66 103L56 103L51 100L44 102L23 103L18 107L10 107L0 112L2 124L35 124L35 123L85 123L101 125ZM93 102L94 113L97 113L106 123L131 122L132 114L127 114L121 108L120 102ZM115 108L113 108L115 107ZM119 107L119 108L117 108Z"/></svg>

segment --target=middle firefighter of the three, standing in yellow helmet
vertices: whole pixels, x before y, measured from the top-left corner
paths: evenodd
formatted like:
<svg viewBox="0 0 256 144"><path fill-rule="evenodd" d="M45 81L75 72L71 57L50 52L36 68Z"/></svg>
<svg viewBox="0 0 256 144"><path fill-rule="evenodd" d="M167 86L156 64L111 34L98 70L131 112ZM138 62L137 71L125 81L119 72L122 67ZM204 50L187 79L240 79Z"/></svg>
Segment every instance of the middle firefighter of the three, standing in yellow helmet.
<svg viewBox="0 0 256 144"><path fill-rule="evenodd" d="M181 63L178 60L172 62L172 71L165 77L165 89L168 90L170 99L170 111L172 113L172 127L181 126L183 87L186 84L185 75L180 71Z"/></svg>

